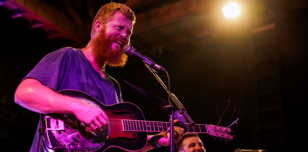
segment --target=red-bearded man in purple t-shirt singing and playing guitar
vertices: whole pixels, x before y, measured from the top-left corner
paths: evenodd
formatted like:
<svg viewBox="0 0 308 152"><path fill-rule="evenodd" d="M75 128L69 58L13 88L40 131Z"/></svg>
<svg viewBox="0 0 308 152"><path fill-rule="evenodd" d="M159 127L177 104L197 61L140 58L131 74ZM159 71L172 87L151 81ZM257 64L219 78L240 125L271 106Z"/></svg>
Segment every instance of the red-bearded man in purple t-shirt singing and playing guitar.
<svg viewBox="0 0 308 152"><path fill-rule="evenodd" d="M71 114L90 131L104 131L108 128L108 117L101 109L57 91L79 90L104 105L123 102L119 84L104 68L107 64L125 65L127 55L121 50L129 43L134 23L134 12L127 6L118 3L102 6L92 23L88 45L83 49L64 47L47 54L22 80L15 92L15 102L38 113ZM43 144L41 127L39 123L30 152L54 151ZM175 127L175 133L177 142L184 130ZM148 136L149 142L141 151L168 145L168 137L167 133Z"/></svg>

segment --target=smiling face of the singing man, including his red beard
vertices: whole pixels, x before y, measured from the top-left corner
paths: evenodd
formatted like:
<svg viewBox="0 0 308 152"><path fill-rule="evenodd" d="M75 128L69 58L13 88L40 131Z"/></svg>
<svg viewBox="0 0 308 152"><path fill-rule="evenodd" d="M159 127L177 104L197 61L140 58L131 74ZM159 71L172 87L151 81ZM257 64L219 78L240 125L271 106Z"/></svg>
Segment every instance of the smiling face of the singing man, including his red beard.
<svg viewBox="0 0 308 152"><path fill-rule="evenodd" d="M99 66L124 66L127 55L122 48L129 43L132 34L132 21L122 13L115 12L113 19L100 25L100 31L93 41L93 54Z"/></svg>

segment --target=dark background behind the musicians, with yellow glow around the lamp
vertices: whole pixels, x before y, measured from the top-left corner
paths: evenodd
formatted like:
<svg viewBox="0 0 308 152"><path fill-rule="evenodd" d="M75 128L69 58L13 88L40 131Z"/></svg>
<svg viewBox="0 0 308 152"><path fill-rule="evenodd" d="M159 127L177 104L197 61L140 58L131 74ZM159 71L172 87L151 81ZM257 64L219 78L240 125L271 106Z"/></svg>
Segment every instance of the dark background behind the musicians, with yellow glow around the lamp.
<svg viewBox="0 0 308 152"><path fill-rule="evenodd" d="M51 51L85 47L91 20L107 2L18 1L22 6L15 8L8 5L15 1L0 0L0 151L28 151L39 121L38 113L14 102L14 92L22 78ZM200 134L208 152L232 152L237 148L300 150L299 137L306 128L302 124L307 101L306 1L238 1L242 14L233 19L221 14L227 1L114 2L126 3L135 11L132 46L168 71L171 92L196 123L216 125L217 108L221 116L229 100L221 125L228 126L235 108L241 111L237 136L229 144L216 143L209 135ZM189 5L183 6L186 3ZM39 8L51 9L43 12L51 17L38 17L43 23L39 27L33 27L37 20L26 15L13 17L29 12L41 16L42 12L35 11ZM175 10L170 13L172 9ZM74 22L55 23L52 17ZM49 31L46 20L51 22ZM167 100L140 60L129 58L124 68L108 69ZM158 74L168 84L165 74ZM168 121L166 112L118 82L124 101L139 106L146 120ZM152 151L160 150L168 151L168 147Z"/></svg>

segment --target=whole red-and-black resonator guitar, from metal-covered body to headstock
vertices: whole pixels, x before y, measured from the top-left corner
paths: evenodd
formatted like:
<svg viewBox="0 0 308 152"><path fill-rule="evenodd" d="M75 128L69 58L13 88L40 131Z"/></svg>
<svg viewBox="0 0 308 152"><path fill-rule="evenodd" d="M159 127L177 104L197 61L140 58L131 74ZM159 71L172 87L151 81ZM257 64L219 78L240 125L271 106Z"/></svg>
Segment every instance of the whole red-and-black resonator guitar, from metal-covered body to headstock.
<svg viewBox="0 0 308 152"><path fill-rule="evenodd" d="M45 114L42 120L44 128L42 139L44 146L51 150L105 152L122 149L138 151L147 143L147 132L168 132L168 127L170 127L169 122L145 121L141 110L129 102L103 105L84 92L63 90L59 93L101 109L108 116L108 129L103 129L103 132L98 133L78 121L73 115ZM228 127L185 123L174 125L182 127L186 133L209 134L226 141L233 139L233 135L230 134L231 129Z"/></svg>

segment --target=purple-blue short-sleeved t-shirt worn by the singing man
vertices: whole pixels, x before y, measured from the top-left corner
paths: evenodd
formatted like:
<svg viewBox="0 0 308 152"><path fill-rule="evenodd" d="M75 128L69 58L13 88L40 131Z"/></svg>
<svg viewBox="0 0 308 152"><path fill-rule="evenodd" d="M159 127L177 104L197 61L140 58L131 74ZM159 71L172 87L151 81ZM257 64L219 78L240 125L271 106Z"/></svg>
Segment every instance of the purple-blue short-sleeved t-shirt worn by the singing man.
<svg viewBox="0 0 308 152"><path fill-rule="evenodd" d="M26 78L39 80L54 91L85 92L104 105L123 102L118 82L108 75L102 78L80 49L64 47L47 54ZM30 152L37 151L38 139L37 129ZM44 151L41 144L39 149Z"/></svg>

